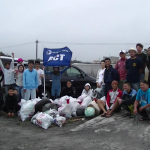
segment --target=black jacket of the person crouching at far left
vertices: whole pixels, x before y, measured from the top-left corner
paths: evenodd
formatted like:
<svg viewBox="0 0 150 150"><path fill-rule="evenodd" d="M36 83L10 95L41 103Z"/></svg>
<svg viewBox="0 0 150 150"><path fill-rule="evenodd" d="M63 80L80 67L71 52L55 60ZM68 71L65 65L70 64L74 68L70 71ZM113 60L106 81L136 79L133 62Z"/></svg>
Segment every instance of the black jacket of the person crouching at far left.
<svg viewBox="0 0 150 150"><path fill-rule="evenodd" d="M11 110L11 111L15 111L17 104L18 98L17 95L14 94L13 96L10 96L9 94L7 94L5 96L5 105L7 107L7 111Z"/></svg>

